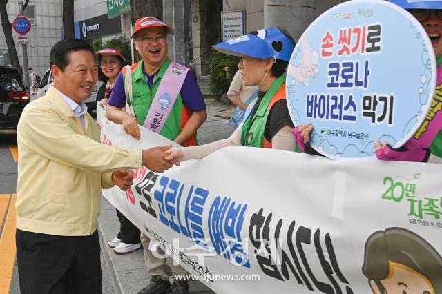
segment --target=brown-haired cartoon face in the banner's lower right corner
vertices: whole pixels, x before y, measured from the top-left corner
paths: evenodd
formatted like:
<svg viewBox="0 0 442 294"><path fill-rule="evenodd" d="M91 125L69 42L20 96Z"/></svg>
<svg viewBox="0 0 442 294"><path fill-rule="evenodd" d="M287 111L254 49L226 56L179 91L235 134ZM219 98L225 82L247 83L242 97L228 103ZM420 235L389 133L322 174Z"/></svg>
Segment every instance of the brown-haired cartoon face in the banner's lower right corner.
<svg viewBox="0 0 442 294"><path fill-rule="evenodd" d="M365 243L362 271L374 294L442 293L442 257L405 228L387 228Z"/></svg>

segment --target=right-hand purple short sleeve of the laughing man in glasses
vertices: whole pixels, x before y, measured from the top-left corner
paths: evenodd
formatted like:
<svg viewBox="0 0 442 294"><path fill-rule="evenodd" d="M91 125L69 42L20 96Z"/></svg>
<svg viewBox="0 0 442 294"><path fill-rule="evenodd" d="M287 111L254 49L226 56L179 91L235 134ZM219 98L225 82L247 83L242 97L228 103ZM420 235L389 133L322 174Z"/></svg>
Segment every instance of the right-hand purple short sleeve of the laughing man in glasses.
<svg viewBox="0 0 442 294"><path fill-rule="evenodd" d="M206 103L204 102L200 87L196 83L195 75L190 70L184 79L180 94L182 103L190 112L206 109Z"/></svg>

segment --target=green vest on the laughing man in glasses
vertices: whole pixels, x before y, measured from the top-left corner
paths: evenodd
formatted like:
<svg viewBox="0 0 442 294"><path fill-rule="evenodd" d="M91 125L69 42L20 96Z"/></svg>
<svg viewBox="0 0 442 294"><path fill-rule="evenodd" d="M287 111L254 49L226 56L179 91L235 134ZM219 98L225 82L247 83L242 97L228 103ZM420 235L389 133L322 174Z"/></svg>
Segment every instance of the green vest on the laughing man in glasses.
<svg viewBox="0 0 442 294"><path fill-rule="evenodd" d="M133 92L133 111L138 119L138 124L143 125L146 120L148 110L151 108L153 98L157 92L158 86L164 73L166 72L171 60L166 58L157 75L153 79L152 89L149 88L146 78L144 77L143 61L140 61L133 66L132 69L132 92ZM127 74L127 73L126 73ZM123 75L124 83L124 75ZM167 139L174 140L181 133L182 114L184 110L184 104L182 103L181 94L173 104L173 108L169 117L162 128L160 135Z"/></svg>

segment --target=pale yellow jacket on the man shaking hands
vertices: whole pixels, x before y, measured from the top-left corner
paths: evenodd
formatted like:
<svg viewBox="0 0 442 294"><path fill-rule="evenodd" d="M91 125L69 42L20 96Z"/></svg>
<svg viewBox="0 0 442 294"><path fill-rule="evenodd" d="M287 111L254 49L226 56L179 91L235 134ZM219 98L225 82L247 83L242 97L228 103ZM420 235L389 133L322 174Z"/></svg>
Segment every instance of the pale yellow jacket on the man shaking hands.
<svg viewBox="0 0 442 294"><path fill-rule="evenodd" d="M99 143L88 113L86 134L66 101L52 87L32 101L17 127L19 149L17 228L50 235L91 235L97 229L102 188L111 170L139 168L142 150Z"/></svg>

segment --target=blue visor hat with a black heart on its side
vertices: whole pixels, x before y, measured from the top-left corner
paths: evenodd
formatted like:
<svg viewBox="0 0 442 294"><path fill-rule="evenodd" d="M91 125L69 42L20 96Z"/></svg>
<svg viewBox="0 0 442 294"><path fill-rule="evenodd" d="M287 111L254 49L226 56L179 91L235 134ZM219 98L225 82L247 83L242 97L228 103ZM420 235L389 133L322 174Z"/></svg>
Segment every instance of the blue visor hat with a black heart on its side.
<svg viewBox="0 0 442 294"><path fill-rule="evenodd" d="M259 59L276 58L289 61L294 43L278 28L258 30L258 35L247 34L212 46L227 55Z"/></svg>

